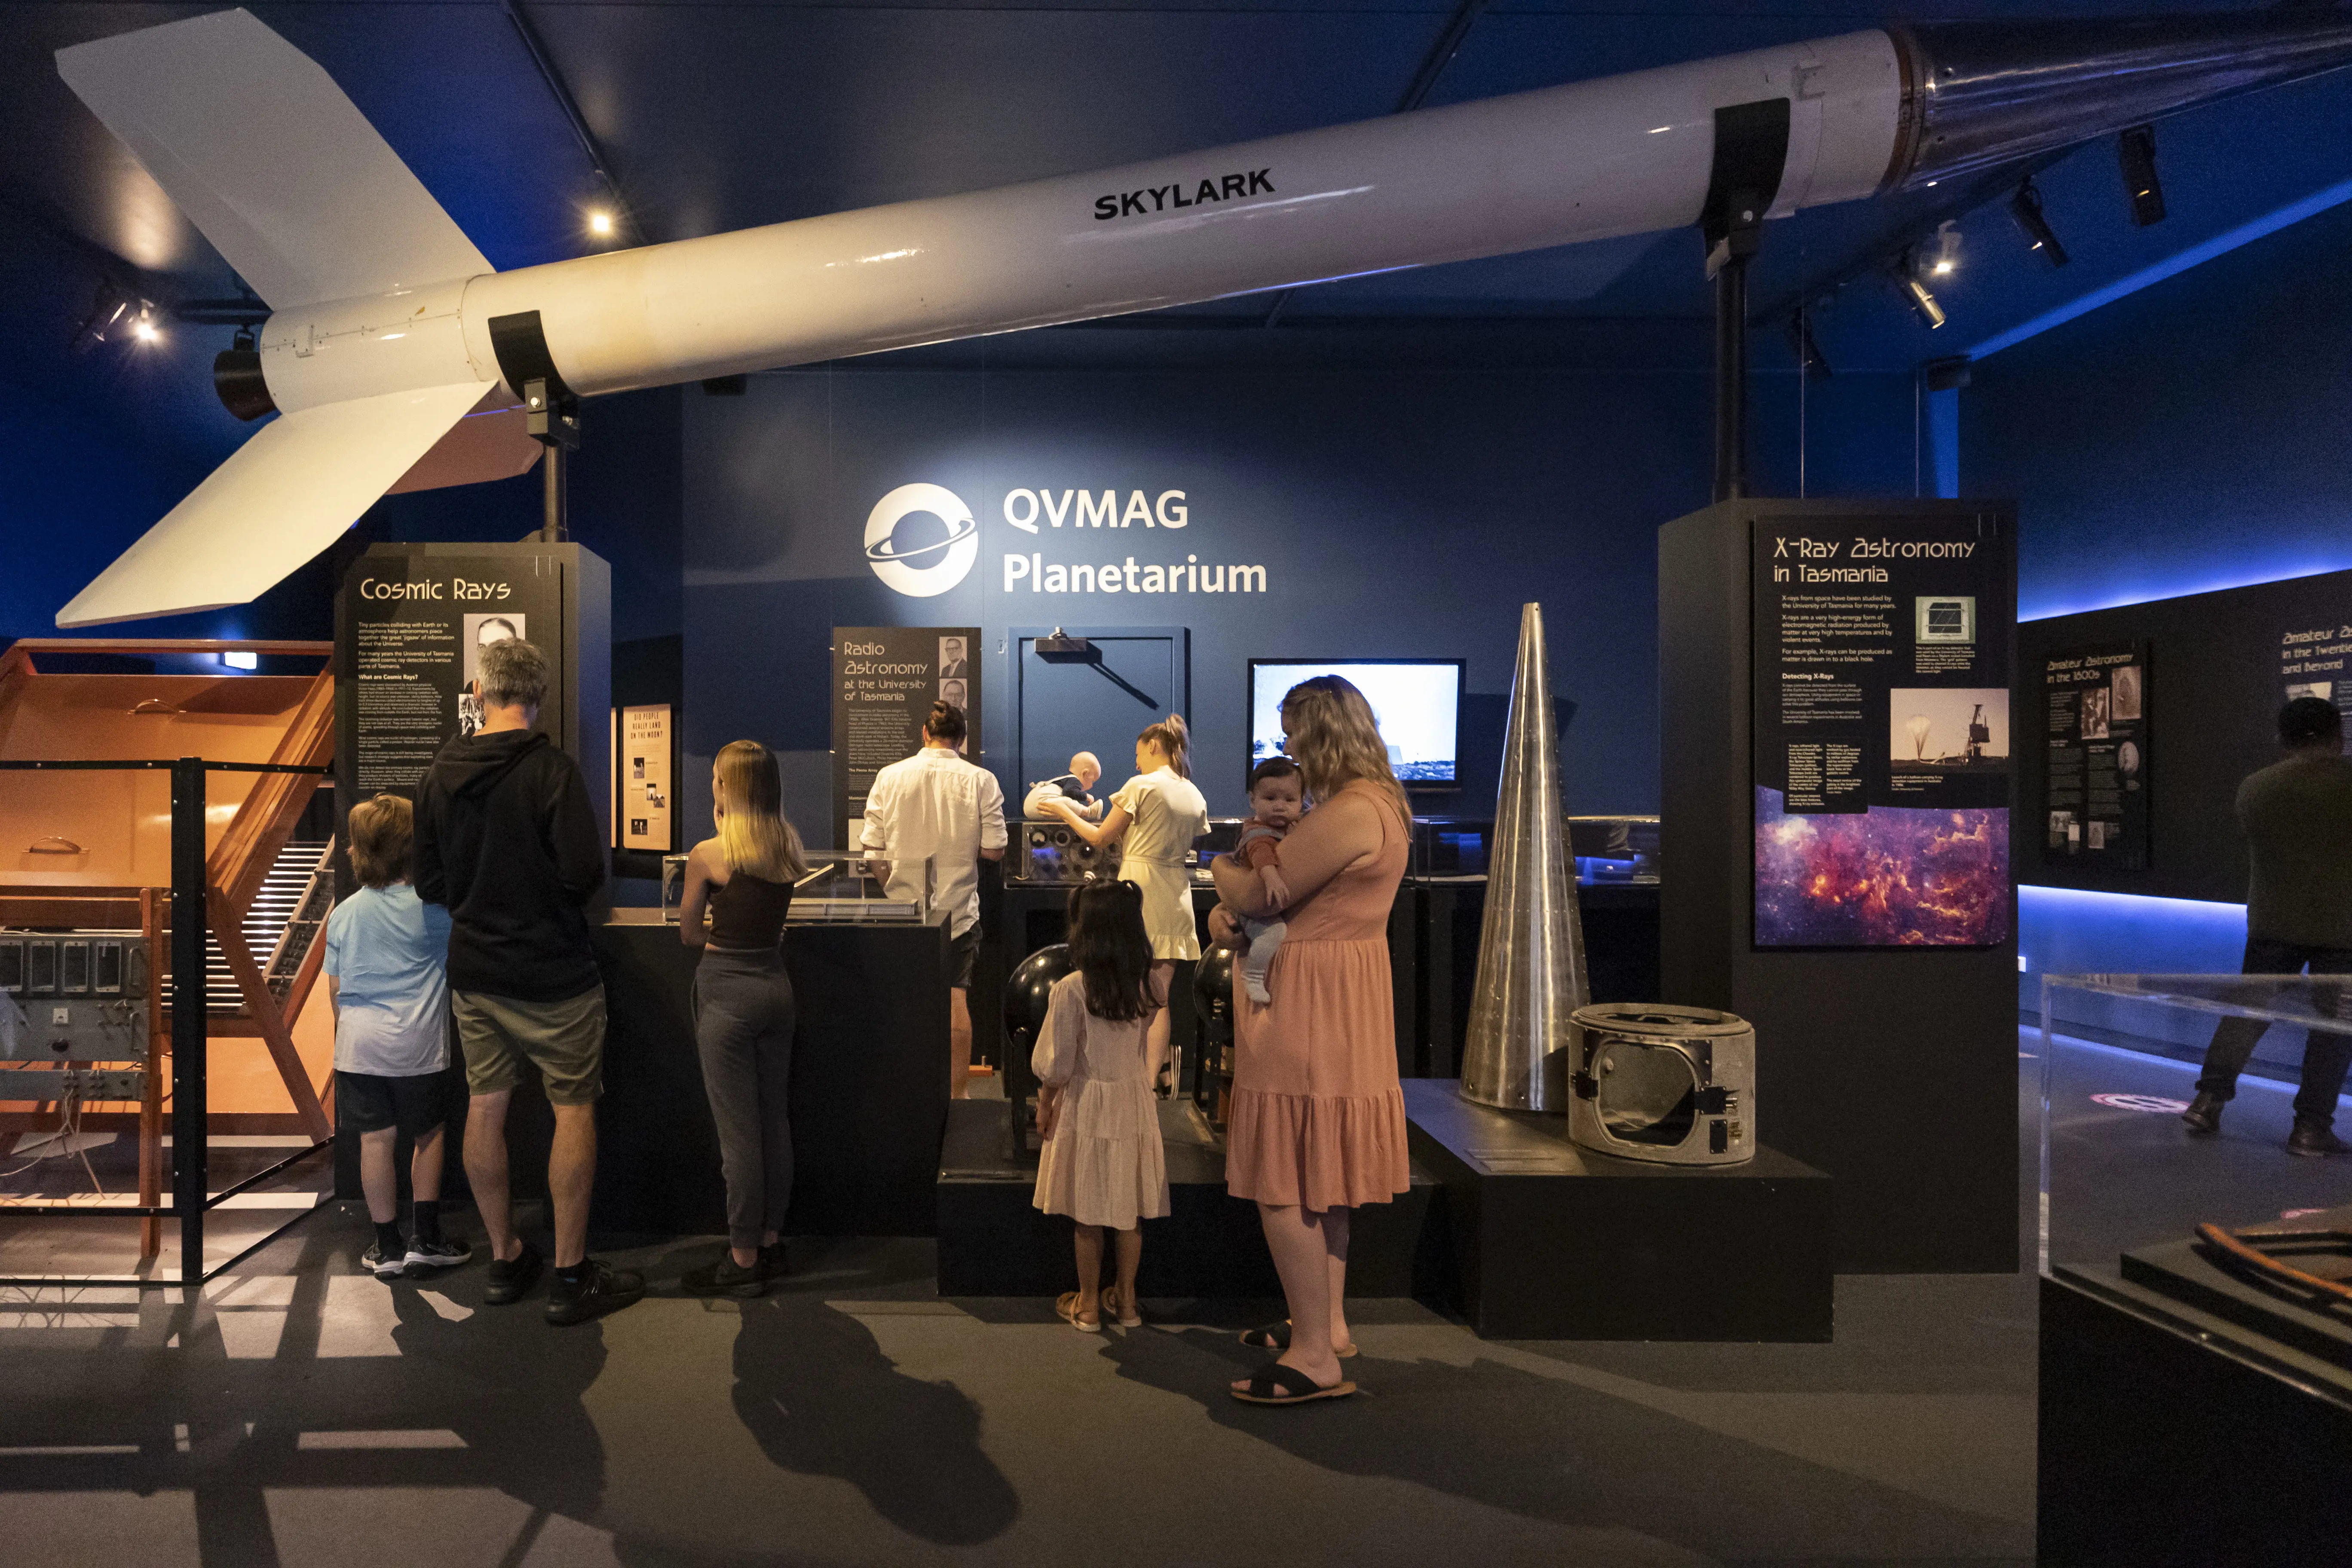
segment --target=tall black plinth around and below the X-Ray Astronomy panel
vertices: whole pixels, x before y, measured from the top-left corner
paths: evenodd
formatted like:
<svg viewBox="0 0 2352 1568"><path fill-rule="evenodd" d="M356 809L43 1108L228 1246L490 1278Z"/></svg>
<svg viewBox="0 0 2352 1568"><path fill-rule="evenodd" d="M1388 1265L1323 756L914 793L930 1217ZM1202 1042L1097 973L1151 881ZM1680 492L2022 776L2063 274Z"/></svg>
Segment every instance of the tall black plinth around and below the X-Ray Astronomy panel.
<svg viewBox="0 0 2352 1568"><path fill-rule="evenodd" d="M2016 505L1748 498L1658 531L1656 1001L1755 1025L1757 1103L1778 1147L1837 1178L1849 1272L2018 1267L2016 900L2009 938L1987 947L1755 945L1757 524L1844 538L1955 517L2013 536ZM2011 578L1999 604L1978 604L1983 637L2013 637L2013 602ZM1907 637L1910 599L1889 614ZM1886 712L1867 717L1884 736ZM2037 830L2027 818L2013 832Z"/></svg>

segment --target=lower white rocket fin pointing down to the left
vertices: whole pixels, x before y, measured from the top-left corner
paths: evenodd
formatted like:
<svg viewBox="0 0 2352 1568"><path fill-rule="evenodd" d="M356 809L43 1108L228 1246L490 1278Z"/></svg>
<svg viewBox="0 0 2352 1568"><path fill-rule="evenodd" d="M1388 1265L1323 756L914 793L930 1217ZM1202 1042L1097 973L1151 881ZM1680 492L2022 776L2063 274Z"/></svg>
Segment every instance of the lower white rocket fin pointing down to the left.
<svg viewBox="0 0 2352 1568"><path fill-rule="evenodd" d="M334 543L426 456L482 386L428 386L282 414L56 611L103 625L245 604Z"/></svg>

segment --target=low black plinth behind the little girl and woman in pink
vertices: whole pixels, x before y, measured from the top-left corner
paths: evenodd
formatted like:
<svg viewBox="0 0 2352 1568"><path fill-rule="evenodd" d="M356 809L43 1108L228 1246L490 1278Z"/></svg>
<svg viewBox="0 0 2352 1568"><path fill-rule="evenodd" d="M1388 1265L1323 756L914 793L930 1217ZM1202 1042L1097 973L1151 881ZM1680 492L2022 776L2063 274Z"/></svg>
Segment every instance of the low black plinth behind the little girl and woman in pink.
<svg viewBox="0 0 2352 1568"><path fill-rule="evenodd" d="M1265 1255L1258 1211L1225 1192L1225 1150L1190 1114L1188 1100L1160 1103L1169 1161L1169 1215L1143 1222L1145 1298L1277 1298L1282 1281ZM1011 1157L1004 1105L948 1107L938 1168L938 1293L1042 1295L1075 1284L1070 1220L1037 1213L1037 1157ZM1437 1187L1418 1168L1411 1192L1355 1211L1348 1244L1350 1295L1430 1295L1446 1265L1432 1204Z"/></svg>

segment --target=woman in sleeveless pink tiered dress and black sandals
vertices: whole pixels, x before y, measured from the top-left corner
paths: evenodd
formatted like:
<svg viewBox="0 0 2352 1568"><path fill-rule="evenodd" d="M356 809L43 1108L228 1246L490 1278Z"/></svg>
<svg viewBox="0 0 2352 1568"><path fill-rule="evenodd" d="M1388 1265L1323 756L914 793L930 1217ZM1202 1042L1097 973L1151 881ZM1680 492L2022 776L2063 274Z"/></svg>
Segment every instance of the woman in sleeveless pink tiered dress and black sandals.
<svg viewBox="0 0 2352 1568"><path fill-rule="evenodd" d="M1282 698L1282 750L1315 809L1282 839L1277 903L1265 872L1214 863L1218 912L1282 914L1289 936L1265 976L1272 1001L1235 997L1225 1187L1256 1199L1291 1321L1242 1335L1282 1356L1232 1385L1251 1403L1341 1399L1355 1385L1343 1295L1348 1213L1409 1185L1388 910L1404 879L1411 811L1364 693L1336 675Z"/></svg>

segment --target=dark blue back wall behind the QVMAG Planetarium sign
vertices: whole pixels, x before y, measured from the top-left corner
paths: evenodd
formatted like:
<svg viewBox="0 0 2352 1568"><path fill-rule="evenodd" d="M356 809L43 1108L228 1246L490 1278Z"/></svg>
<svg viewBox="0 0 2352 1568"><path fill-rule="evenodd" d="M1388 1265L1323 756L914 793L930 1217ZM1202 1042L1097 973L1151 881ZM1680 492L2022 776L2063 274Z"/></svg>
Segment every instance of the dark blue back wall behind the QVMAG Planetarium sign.
<svg viewBox="0 0 2352 1568"><path fill-rule="evenodd" d="M1783 381L1759 400L1757 444L1773 473L1795 468L1797 447L1795 378ZM1863 381L1839 393L1907 435L1907 378L1900 400L1886 388L1872 400ZM1529 599L1545 607L1555 693L1576 703L1571 809L1656 811L1656 527L1708 501L1708 397L1698 364L884 362L753 376L743 397L687 393L689 823L708 811L701 759L755 736L786 755L795 820L826 832L835 625L985 628L988 764L1011 792L1009 628L1188 625L1195 748L1242 757L1247 658L1463 656L1472 693L1505 693ZM1809 411L1813 440L1837 402L1823 395ZM910 482L948 487L981 529L971 576L938 597L901 597L863 559L868 510ZM1070 524L1040 517L1033 536L1004 517L1014 489L1117 489L1122 508L1134 491L1181 489L1188 524L1077 529L1073 505ZM1028 552L1049 564L1251 564L1265 592L1007 590L1007 555ZM1465 755L1494 745L1465 736ZM1240 809L1237 776L1202 769L1211 811ZM1465 778L1458 799L1430 809L1491 811L1491 773Z"/></svg>

